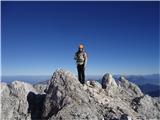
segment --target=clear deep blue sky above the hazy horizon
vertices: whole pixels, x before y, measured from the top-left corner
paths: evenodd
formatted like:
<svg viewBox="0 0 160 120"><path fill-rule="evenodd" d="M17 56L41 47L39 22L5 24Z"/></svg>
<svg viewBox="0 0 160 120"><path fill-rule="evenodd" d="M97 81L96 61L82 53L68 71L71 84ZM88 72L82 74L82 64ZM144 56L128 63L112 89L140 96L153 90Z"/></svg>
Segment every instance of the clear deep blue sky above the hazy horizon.
<svg viewBox="0 0 160 120"><path fill-rule="evenodd" d="M152 74L159 68L159 2L2 2L2 75Z"/></svg>

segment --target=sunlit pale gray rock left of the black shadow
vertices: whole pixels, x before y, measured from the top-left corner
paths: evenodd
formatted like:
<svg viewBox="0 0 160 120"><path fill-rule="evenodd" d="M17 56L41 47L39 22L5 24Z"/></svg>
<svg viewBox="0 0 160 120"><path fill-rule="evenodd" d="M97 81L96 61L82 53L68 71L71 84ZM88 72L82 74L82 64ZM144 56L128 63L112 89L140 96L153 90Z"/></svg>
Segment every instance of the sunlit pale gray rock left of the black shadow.
<svg viewBox="0 0 160 120"><path fill-rule="evenodd" d="M32 85L24 82L1 83L1 119L29 120L27 95L30 91L36 93Z"/></svg>

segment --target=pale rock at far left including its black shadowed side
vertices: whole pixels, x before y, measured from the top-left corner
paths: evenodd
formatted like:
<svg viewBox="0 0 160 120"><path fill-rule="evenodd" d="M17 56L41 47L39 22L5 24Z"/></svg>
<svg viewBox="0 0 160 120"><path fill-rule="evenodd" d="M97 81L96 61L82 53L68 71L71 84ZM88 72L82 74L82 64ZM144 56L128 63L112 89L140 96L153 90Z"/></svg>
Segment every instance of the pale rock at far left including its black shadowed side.
<svg viewBox="0 0 160 120"><path fill-rule="evenodd" d="M0 84L1 120L40 119L45 95L37 93L29 83L14 81ZM41 109L41 110L40 110Z"/></svg>

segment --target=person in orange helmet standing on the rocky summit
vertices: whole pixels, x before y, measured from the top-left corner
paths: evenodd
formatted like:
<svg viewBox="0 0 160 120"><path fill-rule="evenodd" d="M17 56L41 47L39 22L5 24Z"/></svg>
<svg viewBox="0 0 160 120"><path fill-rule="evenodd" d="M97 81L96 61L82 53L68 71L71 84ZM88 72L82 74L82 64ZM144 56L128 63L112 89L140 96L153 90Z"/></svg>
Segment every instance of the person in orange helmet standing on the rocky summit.
<svg viewBox="0 0 160 120"><path fill-rule="evenodd" d="M78 51L75 53L74 59L77 64L78 71L78 79L84 84L85 83L85 67L87 65L87 53L84 51L84 46L82 44L79 45Z"/></svg>

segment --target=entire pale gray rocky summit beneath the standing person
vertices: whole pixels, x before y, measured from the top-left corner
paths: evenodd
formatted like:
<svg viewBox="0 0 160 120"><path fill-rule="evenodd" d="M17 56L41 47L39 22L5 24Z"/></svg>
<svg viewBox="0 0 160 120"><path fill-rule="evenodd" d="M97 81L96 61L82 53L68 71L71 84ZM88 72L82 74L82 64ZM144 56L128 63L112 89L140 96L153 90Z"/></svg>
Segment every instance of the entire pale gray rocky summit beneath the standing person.
<svg viewBox="0 0 160 120"><path fill-rule="evenodd" d="M69 71L31 85L1 83L1 120L160 120L160 99L141 92L125 77L107 73L101 83L82 85Z"/></svg>

